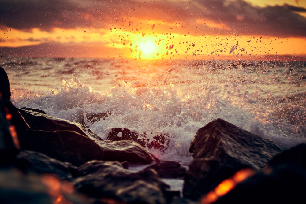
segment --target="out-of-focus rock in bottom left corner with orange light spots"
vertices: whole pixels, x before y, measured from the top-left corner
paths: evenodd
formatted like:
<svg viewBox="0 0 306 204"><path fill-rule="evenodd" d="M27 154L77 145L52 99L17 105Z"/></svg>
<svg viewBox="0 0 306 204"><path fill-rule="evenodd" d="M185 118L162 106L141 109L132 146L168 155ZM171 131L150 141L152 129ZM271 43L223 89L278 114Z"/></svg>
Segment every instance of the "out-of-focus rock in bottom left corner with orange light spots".
<svg viewBox="0 0 306 204"><path fill-rule="evenodd" d="M51 174L24 173L18 169L0 169L0 203L14 204L93 204Z"/></svg>

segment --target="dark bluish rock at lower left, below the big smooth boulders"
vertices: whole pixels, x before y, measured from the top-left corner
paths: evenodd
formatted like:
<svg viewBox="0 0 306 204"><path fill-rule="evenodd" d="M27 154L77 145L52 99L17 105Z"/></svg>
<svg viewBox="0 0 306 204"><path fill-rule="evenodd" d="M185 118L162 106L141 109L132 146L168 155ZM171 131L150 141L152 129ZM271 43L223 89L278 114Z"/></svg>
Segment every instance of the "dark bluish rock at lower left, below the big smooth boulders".
<svg viewBox="0 0 306 204"><path fill-rule="evenodd" d="M50 173L61 180L78 176L76 166L35 151L20 151L15 163L23 172Z"/></svg>

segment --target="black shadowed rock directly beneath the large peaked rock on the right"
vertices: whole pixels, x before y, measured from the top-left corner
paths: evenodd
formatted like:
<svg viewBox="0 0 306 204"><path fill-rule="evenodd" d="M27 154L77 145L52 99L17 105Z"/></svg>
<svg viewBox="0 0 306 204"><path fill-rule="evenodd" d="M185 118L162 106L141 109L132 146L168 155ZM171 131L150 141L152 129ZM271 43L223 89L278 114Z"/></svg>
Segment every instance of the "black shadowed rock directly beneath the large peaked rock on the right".
<svg viewBox="0 0 306 204"><path fill-rule="evenodd" d="M247 167L247 165L236 168L221 164L217 160L194 159L184 177L183 195L185 198L197 201L222 180L232 176L243 167Z"/></svg>

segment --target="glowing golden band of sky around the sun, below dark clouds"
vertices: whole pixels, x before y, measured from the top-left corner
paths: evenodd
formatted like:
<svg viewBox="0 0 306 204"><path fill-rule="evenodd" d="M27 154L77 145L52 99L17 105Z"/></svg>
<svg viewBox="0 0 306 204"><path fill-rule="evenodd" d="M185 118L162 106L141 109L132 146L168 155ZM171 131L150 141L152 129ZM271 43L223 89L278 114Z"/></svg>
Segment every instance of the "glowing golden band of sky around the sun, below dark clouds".
<svg viewBox="0 0 306 204"><path fill-rule="evenodd" d="M207 25L211 26L206 22ZM215 26L216 24L213 23ZM223 27L222 24L218 25ZM154 29L153 29L154 28ZM225 26L225 30L228 28ZM125 31L121 27L97 29L95 27L62 29L53 28L42 31L38 28L31 30L17 30L1 28L5 37L0 37L1 47L20 47L39 45L42 43L60 43L61 45L91 46L92 52L99 57L127 58L127 59L222 59L238 57L256 59L264 55L300 55L305 56L305 38L279 38L268 36L239 35L181 35L178 33L162 32L157 26ZM145 49L144 43L150 42ZM146 44L148 47L148 44ZM154 48L153 48L154 45ZM96 48L95 48L96 47ZM73 57L73 56L66 56Z"/></svg>

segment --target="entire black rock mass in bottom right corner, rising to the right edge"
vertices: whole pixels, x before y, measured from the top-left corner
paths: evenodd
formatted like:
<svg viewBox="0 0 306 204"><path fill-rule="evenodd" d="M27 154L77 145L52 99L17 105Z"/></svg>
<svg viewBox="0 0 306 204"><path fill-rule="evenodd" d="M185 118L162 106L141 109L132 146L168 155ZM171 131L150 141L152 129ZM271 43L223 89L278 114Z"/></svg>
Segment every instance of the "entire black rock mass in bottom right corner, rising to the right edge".
<svg viewBox="0 0 306 204"><path fill-rule="evenodd" d="M286 150L214 203L306 203L305 161L306 144Z"/></svg>

